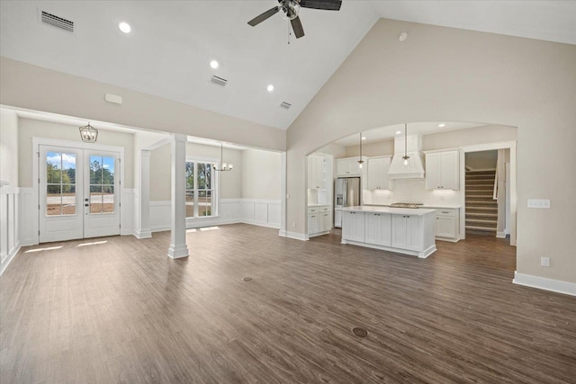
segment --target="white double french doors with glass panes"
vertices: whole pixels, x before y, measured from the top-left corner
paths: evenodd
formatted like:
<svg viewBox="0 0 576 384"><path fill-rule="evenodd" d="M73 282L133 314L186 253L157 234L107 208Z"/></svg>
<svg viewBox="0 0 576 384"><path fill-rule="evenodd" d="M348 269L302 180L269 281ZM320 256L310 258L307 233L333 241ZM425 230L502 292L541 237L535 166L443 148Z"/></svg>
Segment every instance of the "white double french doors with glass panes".
<svg viewBox="0 0 576 384"><path fill-rule="evenodd" d="M120 153L40 145L40 243L120 234Z"/></svg>

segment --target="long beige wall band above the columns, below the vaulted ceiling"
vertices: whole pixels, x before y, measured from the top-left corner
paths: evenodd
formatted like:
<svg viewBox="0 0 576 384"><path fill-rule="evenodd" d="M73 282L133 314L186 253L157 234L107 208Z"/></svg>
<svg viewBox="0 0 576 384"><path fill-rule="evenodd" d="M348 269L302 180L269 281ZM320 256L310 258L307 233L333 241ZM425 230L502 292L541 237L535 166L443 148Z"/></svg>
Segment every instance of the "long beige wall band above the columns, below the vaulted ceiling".
<svg viewBox="0 0 576 384"><path fill-rule="evenodd" d="M286 147L286 133L282 129L10 58L0 58L0 84L0 103L4 105L212 138L249 147L279 151ZM119 94L124 103L121 106L106 103L104 94Z"/></svg>

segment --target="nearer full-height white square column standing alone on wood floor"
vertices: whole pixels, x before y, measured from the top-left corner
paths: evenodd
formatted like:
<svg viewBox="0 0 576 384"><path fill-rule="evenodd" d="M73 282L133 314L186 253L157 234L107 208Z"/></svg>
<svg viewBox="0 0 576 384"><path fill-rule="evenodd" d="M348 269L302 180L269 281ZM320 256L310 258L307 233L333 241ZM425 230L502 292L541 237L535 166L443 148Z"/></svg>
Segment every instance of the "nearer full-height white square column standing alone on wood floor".
<svg viewBox="0 0 576 384"><path fill-rule="evenodd" d="M172 141L172 213L168 256L173 259L188 256L186 246L186 136L174 135Z"/></svg>

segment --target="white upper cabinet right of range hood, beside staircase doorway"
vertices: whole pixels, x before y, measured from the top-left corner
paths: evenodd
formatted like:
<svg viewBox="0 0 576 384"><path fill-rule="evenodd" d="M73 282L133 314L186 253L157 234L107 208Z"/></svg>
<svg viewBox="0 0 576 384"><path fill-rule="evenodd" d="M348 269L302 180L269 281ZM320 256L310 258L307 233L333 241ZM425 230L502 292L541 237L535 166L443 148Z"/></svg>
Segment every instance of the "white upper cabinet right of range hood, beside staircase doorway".
<svg viewBox="0 0 576 384"><path fill-rule="evenodd" d="M460 151L457 149L426 154L426 189L460 189Z"/></svg>

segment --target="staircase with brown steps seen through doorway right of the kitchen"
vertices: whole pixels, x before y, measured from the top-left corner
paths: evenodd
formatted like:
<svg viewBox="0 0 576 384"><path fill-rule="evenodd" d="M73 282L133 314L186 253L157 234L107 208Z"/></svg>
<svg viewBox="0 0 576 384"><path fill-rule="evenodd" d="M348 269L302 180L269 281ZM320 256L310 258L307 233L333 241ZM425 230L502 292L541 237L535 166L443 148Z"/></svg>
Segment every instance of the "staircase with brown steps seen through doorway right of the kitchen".
<svg viewBox="0 0 576 384"><path fill-rule="evenodd" d="M498 202L492 199L496 171L466 171L466 233L496 237Z"/></svg>

